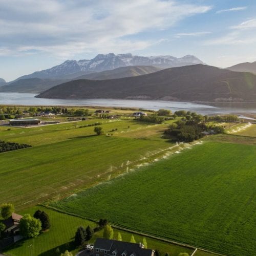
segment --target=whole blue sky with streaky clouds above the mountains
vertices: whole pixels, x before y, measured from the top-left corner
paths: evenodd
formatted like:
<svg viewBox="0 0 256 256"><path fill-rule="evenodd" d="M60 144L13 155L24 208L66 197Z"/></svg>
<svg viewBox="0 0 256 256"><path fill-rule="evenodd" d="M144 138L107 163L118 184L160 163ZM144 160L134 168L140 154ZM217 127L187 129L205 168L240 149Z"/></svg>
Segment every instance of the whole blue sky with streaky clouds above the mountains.
<svg viewBox="0 0 256 256"><path fill-rule="evenodd" d="M255 0L0 0L6 81L99 53L256 61Z"/></svg>

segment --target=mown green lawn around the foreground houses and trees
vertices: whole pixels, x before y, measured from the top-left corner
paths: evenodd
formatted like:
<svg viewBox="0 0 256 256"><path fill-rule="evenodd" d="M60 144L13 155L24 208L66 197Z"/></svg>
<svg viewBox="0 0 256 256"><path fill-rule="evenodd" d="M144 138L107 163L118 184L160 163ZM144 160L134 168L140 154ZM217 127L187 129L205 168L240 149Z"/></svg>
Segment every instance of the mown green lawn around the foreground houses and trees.
<svg viewBox="0 0 256 256"><path fill-rule="evenodd" d="M41 206L35 206L29 208L21 214L30 213L31 215L37 210L44 210L48 213L51 220L51 229L48 232L40 234L37 238L28 239L16 243L14 246L6 249L5 253L12 256L28 256L28 255L40 255L40 256L56 256L56 249L59 248L60 252L64 252L66 249L73 251L73 254L78 251L74 245L74 234L79 226L95 227L96 223L88 220L84 220L78 217L62 214L58 211L47 209ZM97 237L102 237L102 230L96 232L93 238L88 243L94 243ZM117 233L120 232L123 241L130 241L131 233L114 229L114 238L117 237ZM138 234L134 234L136 242L142 242L143 237ZM170 255L177 256L180 252L193 252L193 249L189 249L183 246L173 245L165 243L159 240L147 238L148 248L158 249L160 252L169 252ZM208 255L208 254L202 254ZM209 254L212 255L212 254Z"/></svg>

